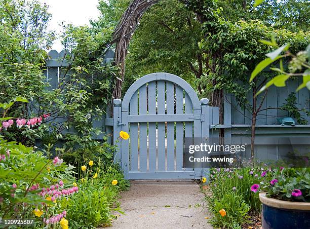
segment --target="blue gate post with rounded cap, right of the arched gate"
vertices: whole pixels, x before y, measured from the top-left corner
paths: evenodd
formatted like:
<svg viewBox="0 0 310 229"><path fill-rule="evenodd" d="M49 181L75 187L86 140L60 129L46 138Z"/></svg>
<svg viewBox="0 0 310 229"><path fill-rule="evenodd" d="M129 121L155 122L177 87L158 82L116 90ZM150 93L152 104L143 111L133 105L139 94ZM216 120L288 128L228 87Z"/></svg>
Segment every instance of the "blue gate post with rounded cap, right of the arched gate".
<svg viewBox="0 0 310 229"><path fill-rule="evenodd" d="M211 115L211 109L212 107L210 107L209 104L209 99L207 98L203 98L200 100L200 104L201 104L201 113L202 116L204 116L204 119L202 121L202 138L203 138L203 142L205 142L206 138L210 137L210 115ZM209 168L203 168L202 172L201 172L203 177L207 178L207 182L209 182L209 174L210 174L210 170Z"/></svg>

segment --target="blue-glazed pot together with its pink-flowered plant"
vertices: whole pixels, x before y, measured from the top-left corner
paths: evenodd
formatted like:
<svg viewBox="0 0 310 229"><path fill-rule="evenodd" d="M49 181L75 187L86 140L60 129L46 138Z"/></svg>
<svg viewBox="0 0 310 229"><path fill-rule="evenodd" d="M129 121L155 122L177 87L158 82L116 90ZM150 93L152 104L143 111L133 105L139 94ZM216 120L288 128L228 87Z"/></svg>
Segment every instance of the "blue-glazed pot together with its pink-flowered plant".
<svg viewBox="0 0 310 229"><path fill-rule="evenodd" d="M262 172L259 192L262 203L262 228L309 228L310 168L283 168Z"/></svg>

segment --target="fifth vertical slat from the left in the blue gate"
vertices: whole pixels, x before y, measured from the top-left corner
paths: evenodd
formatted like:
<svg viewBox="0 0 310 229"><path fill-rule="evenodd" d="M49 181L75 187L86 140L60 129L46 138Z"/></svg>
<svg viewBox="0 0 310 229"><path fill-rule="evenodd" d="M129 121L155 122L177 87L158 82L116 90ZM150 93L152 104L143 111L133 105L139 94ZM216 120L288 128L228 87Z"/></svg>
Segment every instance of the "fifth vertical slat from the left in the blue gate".
<svg viewBox="0 0 310 229"><path fill-rule="evenodd" d="M166 83L167 115L174 113L174 85ZM174 170L174 122L167 122L167 170Z"/></svg>

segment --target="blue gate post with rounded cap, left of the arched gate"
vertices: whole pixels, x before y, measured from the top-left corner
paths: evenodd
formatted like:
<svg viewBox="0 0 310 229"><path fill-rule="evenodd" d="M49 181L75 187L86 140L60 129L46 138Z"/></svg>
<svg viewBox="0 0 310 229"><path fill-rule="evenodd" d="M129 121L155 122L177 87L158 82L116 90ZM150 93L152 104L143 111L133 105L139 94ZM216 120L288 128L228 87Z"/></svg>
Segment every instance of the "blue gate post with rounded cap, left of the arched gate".
<svg viewBox="0 0 310 229"><path fill-rule="evenodd" d="M120 137L120 132L122 130L122 100L114 99L113 100L113 144L116 146L114 151L113 161L114 164L121 165L121 142L118 140Z"/></svg>

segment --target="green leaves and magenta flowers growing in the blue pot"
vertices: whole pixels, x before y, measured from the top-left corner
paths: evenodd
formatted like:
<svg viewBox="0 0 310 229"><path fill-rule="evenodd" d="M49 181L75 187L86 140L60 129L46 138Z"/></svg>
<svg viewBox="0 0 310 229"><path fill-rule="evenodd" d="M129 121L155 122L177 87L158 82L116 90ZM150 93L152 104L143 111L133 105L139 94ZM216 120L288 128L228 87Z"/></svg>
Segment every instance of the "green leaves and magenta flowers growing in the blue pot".
<svg viewBox="0 0 310 229"><path fill-rule="evenodd" d="M272 180L277 180L274 184ZM300 196L292 196L293 190L301 191ZM310 169L309 168L273 168L266 171L260 181L260 190L267 197L279 200L310 202Z"/></svg>

